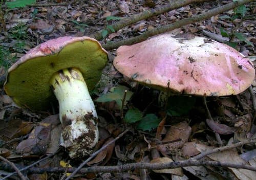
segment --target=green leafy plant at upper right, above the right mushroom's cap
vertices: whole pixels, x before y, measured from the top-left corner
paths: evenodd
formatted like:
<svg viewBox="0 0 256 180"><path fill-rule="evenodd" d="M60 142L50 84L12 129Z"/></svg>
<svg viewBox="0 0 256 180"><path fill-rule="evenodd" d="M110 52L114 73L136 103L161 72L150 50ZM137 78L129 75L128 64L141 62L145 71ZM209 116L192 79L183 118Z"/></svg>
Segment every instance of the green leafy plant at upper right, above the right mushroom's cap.
<svg viewBox="0 0 256 180"><path fill-rule="evenodd" d="M247 40L246 36L243 33L238 32L239 28L242 25L242 22L244 20L246 12L247 12L246 6L241 5L234 9L234 13L232 16L229 16L229 15L220 16L220 18L222 18L222 19L226 18L226 19L229 19L232 21L233 27L231 29L231 32L226 31L224 28L220 28L220 31L221 31L221 35L223 37L229 38L229 41L226 42L226 44L228 44L229 46L231 46L233 48L236 48L236 46L237 46L237 42L234 42L234 38L238 38L240 41L243 41L246 44L248 44L249 46L254 47L253 43L250 42L249 40ZM239 18L240 18L240 22L237 25L235 25L234 22Z"/></svg>

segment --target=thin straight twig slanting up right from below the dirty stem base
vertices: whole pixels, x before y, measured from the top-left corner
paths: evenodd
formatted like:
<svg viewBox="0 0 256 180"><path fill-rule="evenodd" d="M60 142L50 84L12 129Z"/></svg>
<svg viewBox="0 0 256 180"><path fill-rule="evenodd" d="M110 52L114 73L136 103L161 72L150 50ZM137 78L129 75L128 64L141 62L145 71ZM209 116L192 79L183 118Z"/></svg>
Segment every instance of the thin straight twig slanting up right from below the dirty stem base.
<svg viewBox="0 0 256 180"><path fill-rule="evenodd" d="M115 139L113 139L112 141L110 141L109 143L105 144L104 146L102 146L99 150L95 151L94 153L92 153L90 155L90 157L82 162L67 178L66 180L69 180L70 178L72 178L84 165L86 165L89 161L91 161L98 153L100 153L101 151L103 151L104 149L106 149L109 145L111 145L112 143L114 143L115 141L117 141L119 138L121 138L126 132L128 132L130 130L130 128L127 128L126 130L124 130L122 133L120 133L118 135L118 137L116 137Z"/></svg>

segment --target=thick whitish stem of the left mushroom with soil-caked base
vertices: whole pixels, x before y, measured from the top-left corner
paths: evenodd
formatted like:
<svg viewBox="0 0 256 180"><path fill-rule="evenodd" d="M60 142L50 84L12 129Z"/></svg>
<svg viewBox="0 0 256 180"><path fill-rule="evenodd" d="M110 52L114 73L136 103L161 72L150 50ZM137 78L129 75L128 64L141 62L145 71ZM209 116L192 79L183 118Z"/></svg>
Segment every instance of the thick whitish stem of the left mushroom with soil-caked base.
<svg viewBox="0 0 256 180"><path fill-rule="evenodd" d="M82 74L75 68L63 69L53 75L51 85L59 102L61 146L71 158L89 155L99 134L96 110Z"/></svg>

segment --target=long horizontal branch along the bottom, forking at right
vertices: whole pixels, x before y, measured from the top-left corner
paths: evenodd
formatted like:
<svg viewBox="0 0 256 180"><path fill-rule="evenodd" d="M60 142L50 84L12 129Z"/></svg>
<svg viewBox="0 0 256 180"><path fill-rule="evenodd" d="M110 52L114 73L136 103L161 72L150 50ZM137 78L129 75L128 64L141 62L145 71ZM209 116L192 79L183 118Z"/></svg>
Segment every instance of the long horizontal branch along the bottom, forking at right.
<svg viewBox="0 0 256 180"><path fill-rule="evenodd" d="M123 132L124 133L124 132ZM120 134L121 135L121 134ZM122 134L123 135L123 134ZM110 142L113 143L113 142ZM224 151L227 149L231 149L234 147L242 146L244 144L248 143L256 143L256 139L254 140L247 140L227 146L223 146L220 148L215 148L210 151L203 152L194 158L190 158L188 160L180 161L180 162L172 162L172 163L130 163L120 166L94 166L94 167L88 167L88 168L59 168L59 167L50 167L50 168L37 168L37 167L31 167L28 169L28 172L30 173L63 173L63 172L74 172L75 173L88 173L88 172L122 172L122 171L129 171L139 168L145 168L145 169L170 169L170 168L178 168L178 167L186 167L186 166L219 166L219 167L229 167L229 168L242 168L242 169L248 169L252 171L256 171L256 167L244 165L244 164L230 164L230 163L220 163L218 161L206 161L201 160L204 156ZM106 144L108 145L108 144ZM105 146L106 146L105 145ZM3 165L2 165L3 166ZM23 168L24 169L24 168Z"/></svg>

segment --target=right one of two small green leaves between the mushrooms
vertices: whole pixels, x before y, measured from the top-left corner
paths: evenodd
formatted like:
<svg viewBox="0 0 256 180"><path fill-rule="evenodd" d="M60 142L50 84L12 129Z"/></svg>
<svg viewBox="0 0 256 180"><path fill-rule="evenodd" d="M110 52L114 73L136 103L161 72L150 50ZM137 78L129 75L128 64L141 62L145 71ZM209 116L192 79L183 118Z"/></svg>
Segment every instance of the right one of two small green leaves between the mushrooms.
<svg viewBox="0 0 256 180"><path fill-rule="evenodd" d="M145 130L152 130L156 127L158 127L158 124L160 123L160 119L154 115L154 114L147 114L145 117L141 119L139 122L137 129Z"/></svg>

